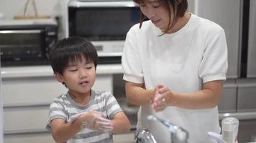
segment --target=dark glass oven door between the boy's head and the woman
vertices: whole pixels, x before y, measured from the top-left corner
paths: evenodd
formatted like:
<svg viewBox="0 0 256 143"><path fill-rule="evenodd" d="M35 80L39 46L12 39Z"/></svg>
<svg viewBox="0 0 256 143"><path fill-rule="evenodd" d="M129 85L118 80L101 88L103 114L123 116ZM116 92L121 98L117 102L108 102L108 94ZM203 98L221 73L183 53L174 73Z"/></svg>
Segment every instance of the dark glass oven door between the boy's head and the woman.
<svg viewBox="0 0 256 143"><path fill-rule="evenodd" d="M91 41L124 40L129 28L140 21L140 8L69 7L69 35Z"/></svg>

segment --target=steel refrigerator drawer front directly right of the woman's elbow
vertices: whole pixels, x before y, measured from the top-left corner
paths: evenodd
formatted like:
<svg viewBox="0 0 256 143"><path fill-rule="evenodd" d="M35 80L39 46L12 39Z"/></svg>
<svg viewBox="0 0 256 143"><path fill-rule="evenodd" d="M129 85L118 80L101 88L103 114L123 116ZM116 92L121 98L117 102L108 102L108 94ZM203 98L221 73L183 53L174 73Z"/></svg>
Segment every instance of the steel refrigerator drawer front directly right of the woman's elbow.
<svg viewBox="0 0 256 143"><path fill-rule="evenodd" d="M224 89L219 100L219 112L237 111L237 84L234 79L224 82Z"/></svg>

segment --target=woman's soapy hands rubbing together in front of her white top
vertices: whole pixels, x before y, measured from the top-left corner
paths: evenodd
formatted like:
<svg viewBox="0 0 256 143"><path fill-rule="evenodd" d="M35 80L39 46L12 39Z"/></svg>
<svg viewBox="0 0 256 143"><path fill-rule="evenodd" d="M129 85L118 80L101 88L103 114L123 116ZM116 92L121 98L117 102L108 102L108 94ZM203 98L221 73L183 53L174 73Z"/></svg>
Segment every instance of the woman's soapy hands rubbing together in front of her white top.
<svg viewBox="0 0 256 143"><path fill-rule="evenodd" d="M168 107L172 95L173 93L168 87L157 85L157 87L155 87L155 97L152 101L152 107L155 112L161 112Z"/></svg>

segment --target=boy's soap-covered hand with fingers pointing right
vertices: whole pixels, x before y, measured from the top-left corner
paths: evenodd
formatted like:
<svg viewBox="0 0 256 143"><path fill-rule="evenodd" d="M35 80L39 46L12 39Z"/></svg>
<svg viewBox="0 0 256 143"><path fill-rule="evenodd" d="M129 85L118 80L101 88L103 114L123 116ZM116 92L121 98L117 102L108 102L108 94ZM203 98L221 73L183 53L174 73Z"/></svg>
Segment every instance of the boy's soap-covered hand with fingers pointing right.
<svg viewBox="0 0 256 143"><path fill-rule="evenodd" d="M81 118L83 119L81 129L88 128L102 132L111 132L113 130L113 124L101 112L85 112L81 115Z"/></svg>

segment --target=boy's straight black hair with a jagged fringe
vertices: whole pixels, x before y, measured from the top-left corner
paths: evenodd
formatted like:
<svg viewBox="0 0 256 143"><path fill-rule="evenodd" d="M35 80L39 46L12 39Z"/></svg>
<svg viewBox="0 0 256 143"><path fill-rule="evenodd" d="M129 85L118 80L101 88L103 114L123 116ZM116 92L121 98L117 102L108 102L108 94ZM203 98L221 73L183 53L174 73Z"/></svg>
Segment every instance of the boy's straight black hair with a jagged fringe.
<svg viewBox="0 0 256 143"><path fill-rule="evenodd" d="M88 63L93 62L96 68L98 54L91 41L80 36L70 36L58 41L50 48L49 59L52 70L63 74L68 61L81 60L83 56Z"/></svg>

